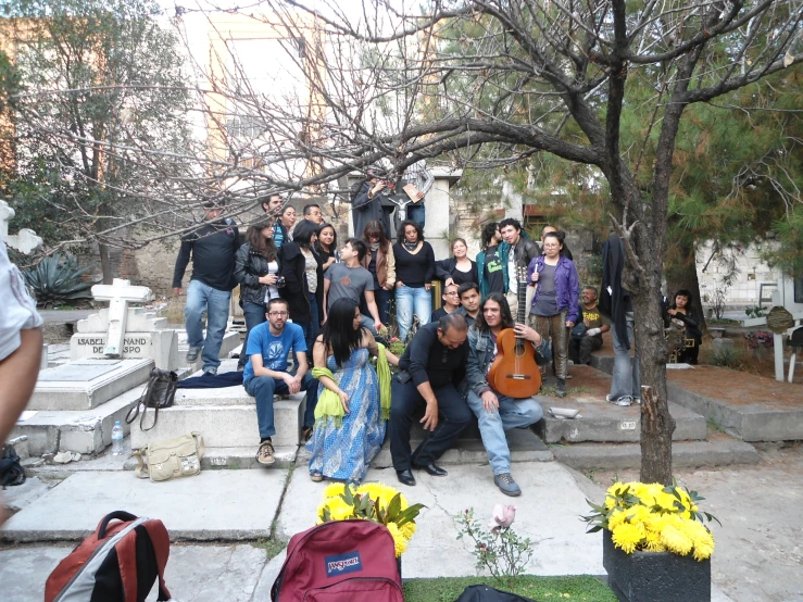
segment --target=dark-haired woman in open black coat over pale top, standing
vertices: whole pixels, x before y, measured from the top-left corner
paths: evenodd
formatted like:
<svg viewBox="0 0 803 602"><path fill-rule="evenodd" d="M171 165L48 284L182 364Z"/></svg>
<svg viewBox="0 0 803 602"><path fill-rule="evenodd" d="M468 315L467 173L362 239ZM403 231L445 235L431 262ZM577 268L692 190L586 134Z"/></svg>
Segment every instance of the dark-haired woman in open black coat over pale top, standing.
<svg viewBox="0 0 803 602"><path fill-rule="evenodd" d="M290 308L290 319L304 329L308 354L321 328L317 294L323 292L324 273L321 258L312 250L317 225L302 220L292 231L292 240L279 251L285 288L281 291Z"/></svg>

